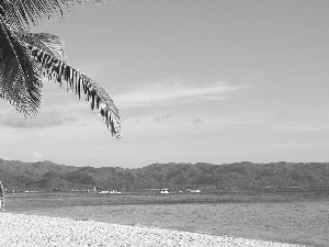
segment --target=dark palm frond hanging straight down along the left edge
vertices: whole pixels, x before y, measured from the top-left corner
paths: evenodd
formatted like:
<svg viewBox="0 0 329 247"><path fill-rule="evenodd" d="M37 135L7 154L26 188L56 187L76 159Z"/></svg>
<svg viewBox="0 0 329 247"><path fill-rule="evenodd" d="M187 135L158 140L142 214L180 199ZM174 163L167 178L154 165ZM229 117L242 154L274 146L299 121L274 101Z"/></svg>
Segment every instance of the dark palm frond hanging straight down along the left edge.
<svg viewBox="0 0 329 247"><path fill-rule="evenodd" d="M41 108L39 66L0 19L0 97L25 116Z"/></svg>

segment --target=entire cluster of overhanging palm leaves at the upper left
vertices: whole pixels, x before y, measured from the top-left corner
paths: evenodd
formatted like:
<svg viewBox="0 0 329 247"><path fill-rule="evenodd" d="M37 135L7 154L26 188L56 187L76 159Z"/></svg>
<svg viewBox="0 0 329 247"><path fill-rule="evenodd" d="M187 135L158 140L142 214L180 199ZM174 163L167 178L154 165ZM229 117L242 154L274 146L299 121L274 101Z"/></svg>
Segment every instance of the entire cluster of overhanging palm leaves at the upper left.
<svg viewBox="0 0 329 247"><path fill-rule="evenodd" d="M42 20L63 18L77 4L101 2L105 0L0 0L0 98L25 116L35 115L41 108L42 77L66 83L79 99L83 92L112 135L121 138L120 114L110 94L66 63L64 42L56 35L24 31Z"/></svg>

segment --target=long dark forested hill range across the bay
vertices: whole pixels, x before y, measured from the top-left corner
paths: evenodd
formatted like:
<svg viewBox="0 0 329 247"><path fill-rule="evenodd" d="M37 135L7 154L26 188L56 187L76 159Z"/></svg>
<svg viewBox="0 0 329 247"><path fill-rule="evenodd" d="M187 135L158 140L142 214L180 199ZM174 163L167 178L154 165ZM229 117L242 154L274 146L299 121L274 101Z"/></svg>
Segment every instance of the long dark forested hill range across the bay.
<svg viewBox="0 0 329 247"><path fill-rule="evenodd" d="M154 164L144 168L73 167L52 161L0 159L0 180L8 190L67 191L159 187L258 188L329 187L329 164L236 162L227 165Z"/></svg>

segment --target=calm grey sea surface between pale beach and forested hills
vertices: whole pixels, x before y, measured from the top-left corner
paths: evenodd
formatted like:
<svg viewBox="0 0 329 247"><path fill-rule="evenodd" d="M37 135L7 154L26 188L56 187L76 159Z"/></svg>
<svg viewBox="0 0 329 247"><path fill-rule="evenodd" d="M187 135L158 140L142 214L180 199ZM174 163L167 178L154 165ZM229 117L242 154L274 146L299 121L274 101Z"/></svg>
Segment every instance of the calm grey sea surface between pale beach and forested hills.
<svg viewBox="0 0 329 247"><path fill-rule="evenodd" d="M329 246L329 188L15 193L7 212Z"/></svg>

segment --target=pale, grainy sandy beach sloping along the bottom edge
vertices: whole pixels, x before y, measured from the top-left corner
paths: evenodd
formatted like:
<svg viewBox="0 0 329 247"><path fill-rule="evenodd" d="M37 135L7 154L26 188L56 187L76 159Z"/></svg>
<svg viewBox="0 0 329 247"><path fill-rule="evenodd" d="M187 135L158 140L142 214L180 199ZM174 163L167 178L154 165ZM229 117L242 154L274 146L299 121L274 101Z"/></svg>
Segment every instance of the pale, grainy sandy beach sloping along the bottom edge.
<svg viewBox="0 0 329 247"><path fill-rule="evenodd" d="M0 246L296 247L297 245L148 226L0 213Z"/></svg>

